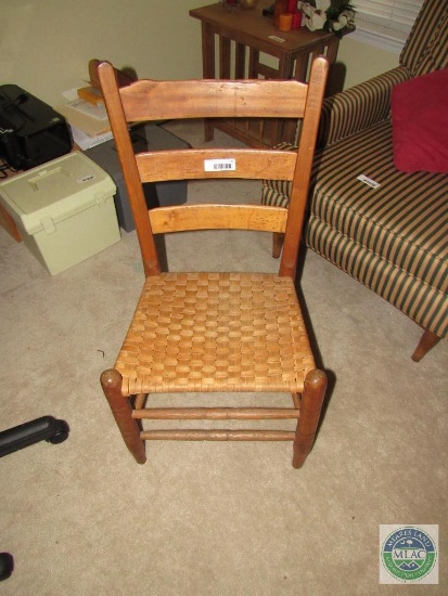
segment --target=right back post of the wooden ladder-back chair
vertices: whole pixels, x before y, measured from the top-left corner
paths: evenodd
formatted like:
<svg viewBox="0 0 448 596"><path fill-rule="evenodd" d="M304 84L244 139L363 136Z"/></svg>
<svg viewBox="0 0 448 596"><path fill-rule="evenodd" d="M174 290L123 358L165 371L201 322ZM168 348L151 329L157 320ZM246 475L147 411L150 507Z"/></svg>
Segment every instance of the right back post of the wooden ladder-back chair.
<svg viewBox="0 0 448 596"><path fill-rule="evenodd" d="M322 107L329 65L324 57L317 57L311 67L307 104L302 122L298 157L286 221L284 246L280 262L280 275L294 280L297 269L298 247L308 200L309 179L315 156L317 132Z"/></svg>

